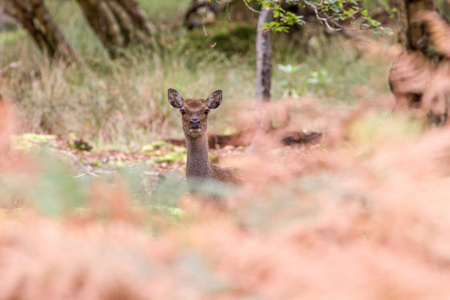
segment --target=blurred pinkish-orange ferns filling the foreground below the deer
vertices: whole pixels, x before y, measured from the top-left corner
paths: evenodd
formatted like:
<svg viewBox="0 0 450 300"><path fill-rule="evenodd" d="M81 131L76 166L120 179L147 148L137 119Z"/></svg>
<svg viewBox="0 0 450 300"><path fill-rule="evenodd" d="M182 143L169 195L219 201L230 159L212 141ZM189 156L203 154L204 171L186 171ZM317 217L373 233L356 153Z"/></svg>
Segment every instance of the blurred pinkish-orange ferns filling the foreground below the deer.
<svg viewBox="0 0 450 300"><path fill-rule="evenodd" d="M240 187L189 193L152 177L162 162L87 170L22 137L0 161L0 298L445 299L449 129L300 100L322 143L222 156Z"/></svg>

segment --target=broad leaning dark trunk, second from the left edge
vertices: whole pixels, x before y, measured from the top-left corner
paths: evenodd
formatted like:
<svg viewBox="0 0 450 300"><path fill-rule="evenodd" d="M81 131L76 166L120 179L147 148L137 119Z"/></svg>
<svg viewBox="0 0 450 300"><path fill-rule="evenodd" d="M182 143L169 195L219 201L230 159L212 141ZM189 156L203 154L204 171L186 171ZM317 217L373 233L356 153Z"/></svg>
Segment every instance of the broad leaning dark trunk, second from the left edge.
<svg viewBox="0 0 450 300"><path fill-rule="evenodd" d="M77 0L111 58L117 49L152 43L155 32L136 0Z"/></svg>

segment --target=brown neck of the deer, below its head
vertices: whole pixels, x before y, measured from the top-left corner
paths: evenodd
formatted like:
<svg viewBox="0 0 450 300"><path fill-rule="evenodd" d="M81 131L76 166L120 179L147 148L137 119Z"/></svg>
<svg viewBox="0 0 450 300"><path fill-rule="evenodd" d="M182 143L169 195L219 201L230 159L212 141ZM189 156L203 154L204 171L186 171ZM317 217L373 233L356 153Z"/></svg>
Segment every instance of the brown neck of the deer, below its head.
<svg viewBox="0 0 450 300"><path fill-rule="evenodd" d="M186 144L186 177L211 178L207 135L204 134L195 138L186 136Z"/></svg>

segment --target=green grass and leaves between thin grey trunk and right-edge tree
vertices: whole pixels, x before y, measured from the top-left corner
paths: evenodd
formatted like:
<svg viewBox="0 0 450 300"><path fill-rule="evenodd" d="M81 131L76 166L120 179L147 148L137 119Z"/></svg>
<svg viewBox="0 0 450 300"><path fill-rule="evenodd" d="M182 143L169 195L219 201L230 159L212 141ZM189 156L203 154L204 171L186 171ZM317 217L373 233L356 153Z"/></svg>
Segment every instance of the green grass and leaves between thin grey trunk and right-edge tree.
<svg viewBox="0 0 450 300"><path fill-rule="evenodd" d="M315 32L306 33L313 35L314 38ZM283 53L274 52L274 61L287 68L284 70L283 67L281 69L277 67L273 70L274 99L289 94L291 96L309 94L330 104L349 105L359 99L353 92L358 87L364 87L367 91L366 96L389 92L385 78L390 65L385 64L380 58L369 58L364 55L361 57L361 53L340 39L317 38L316 44L314 48L316 52L309 55L302 54L304 52L299 52L295 47L292 47L292 50L288 48L288 51ZM339 59L336 59L337 57ZM286 72L290 70L295 72Z"/></svg>

